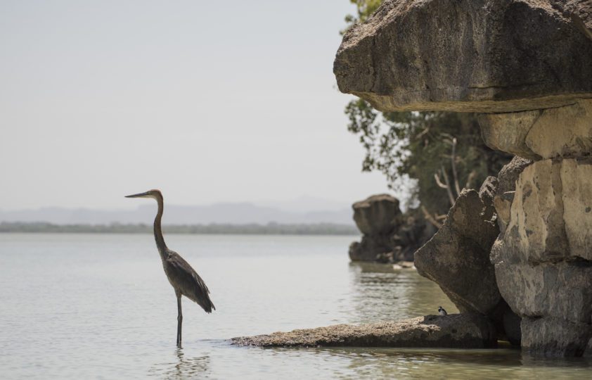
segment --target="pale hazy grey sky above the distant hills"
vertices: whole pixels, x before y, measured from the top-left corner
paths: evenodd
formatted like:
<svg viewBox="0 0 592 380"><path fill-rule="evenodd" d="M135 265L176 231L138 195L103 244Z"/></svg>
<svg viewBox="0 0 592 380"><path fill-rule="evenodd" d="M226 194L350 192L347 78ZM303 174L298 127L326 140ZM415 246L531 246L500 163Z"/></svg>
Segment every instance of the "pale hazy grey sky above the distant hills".
<svg viewBox="0 0 592 380"><path fill-rule="evenodd" d="M0 1L0 208L351 203L333 58L348 0Z"/></svg>

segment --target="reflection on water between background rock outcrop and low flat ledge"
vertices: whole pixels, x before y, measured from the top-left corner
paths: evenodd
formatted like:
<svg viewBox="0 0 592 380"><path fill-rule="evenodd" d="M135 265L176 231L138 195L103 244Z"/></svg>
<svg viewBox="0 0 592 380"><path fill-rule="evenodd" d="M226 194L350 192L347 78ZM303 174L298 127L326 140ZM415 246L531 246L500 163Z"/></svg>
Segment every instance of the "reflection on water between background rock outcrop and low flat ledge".
<svg viewBox="0 0 592 380"><path fill-rule="evenodd" d="M404 319L435 314L439 305L458 312L434 282L416 270L394 270L392 265L350 262L352 313L355 322Z"/></svg>

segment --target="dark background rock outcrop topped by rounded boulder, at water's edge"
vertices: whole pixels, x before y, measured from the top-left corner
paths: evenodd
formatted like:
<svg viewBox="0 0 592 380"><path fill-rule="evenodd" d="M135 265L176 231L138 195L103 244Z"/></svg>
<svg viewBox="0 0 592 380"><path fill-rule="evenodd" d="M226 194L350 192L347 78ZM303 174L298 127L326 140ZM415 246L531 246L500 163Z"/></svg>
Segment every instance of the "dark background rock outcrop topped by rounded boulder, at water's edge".
<svg viewBox="0 0 592 380"><path fill-rule="evenodd" d="M349 246L353 261L413 261L413 252L435 233L418 210L401 214L399 201L388 194L370 196L352 207L363 234Z"/></svg>

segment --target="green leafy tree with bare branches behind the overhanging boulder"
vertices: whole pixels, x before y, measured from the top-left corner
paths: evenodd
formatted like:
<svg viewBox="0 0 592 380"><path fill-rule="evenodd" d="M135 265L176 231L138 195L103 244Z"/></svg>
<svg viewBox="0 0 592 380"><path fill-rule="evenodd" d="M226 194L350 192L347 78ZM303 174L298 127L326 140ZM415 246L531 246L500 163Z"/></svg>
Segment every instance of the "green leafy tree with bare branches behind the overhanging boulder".
<svg viewBox="0 0 592 380"><path fill-rule="evenodd" d="M345 17L347 27L366 20L382 2L349 1L357 15ZM347 129L359 135L366 150L362 170L379 170L391 189L412 179L413 199L434 219L446 214L463 187L480 186L511 158L485 146L472 113L381 113L362 99L350 101L345 113Z"/></svg>

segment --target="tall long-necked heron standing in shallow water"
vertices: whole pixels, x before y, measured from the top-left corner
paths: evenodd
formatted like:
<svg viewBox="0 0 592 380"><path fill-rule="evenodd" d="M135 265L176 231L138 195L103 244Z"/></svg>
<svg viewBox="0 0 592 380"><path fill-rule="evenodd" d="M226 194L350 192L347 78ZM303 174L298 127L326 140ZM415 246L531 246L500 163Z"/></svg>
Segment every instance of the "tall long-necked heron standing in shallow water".
<svg viewBox="0 0 592 380"><path fill-rule="evenodd" d="M210 313L214 308L212 300L210 300L210 290L207 289L205 282L202 280L198 272L195 272L191 265L181 258L179 253L171 251L165 244L165 239L162 237L162 229L160 228L160 220L162 219L162 210L164 203L162 194L159 190L150 190L145 193L134 194L126 196L126 198L154 198L158 203L158 212L154 220L154 239L156 240L156 247L160 258L162 259L162 267L165 268L165 274L169 282L173 286L176 294L176 307L179 315L177 316L176 324L176 346L181 348L181 324L183 324L183 313L181 313L181 296L186 296L190 300L198 303L205 312Z"/></svg>

